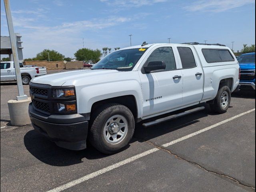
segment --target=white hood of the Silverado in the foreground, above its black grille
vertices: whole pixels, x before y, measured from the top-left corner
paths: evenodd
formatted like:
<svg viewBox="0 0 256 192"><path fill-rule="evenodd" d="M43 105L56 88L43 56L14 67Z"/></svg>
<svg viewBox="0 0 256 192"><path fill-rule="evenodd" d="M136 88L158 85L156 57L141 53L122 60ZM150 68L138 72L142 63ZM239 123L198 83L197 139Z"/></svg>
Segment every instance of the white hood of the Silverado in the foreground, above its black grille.
<svg viewBox="0 0 256 192"><path fill-rule="evenodd" d="M74 70L67 72L60 72L54 74L43 75L39 77L35 77L31 80L32 83L38 84L48 84L51 86L62 86L66 85L76 85L78 82L84 83L96 83L98 81L106 82L110 77L121 73L117 70L106 70L106 69L98 69L98 70Z"/></svg>

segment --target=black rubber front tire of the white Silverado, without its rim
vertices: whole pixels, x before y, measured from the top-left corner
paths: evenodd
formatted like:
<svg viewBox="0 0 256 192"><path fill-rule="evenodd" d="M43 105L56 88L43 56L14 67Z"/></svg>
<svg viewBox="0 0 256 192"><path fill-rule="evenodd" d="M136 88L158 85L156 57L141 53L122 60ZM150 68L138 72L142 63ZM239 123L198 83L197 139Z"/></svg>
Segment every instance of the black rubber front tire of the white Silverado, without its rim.
<svg viewBox="0 0 256 192"><path fill-rule="evenodd" d="M124 138L117 144L110 144L104 138L104 127L109 118L115 115L122 116L128 124L127 132ZM91 127L89 131L89 140L92 146L104 154L116 153L124 148L132 139L135 129L135 120L132 112L121 104L105 104L93 112L91 118ZM109 134L109 133L108 133Z"/></svg>

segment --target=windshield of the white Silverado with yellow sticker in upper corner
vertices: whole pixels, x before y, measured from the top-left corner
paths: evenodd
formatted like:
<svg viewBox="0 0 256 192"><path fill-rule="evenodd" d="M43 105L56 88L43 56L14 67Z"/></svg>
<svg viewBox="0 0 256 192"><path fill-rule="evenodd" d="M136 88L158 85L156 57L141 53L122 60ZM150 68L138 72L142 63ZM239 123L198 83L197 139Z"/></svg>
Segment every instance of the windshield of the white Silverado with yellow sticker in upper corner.
<svg viewBox="0 0 256 192"><path fill-rule="evenodd" d="M147 48L136 48L112 52L97 62L91 69L131 71L146 50Z"/></svg>

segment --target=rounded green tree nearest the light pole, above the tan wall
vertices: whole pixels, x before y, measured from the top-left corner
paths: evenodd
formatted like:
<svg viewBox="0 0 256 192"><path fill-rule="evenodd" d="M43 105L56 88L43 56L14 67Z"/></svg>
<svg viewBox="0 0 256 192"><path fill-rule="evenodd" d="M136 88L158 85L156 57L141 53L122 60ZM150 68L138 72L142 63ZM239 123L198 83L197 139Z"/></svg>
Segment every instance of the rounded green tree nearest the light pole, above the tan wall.
<svg viewBox="0 0 256 192"><path fill-rule="evenodd" d="M58 51L50 50L50 49L44 49L42 52L36 54L36 57L33 58L33 60L38 60L38 61L47 60L48 61L48 53L49 53L50 61L63 61L64 60L64 57L65 57L64 55L60 54Z"/></svg>

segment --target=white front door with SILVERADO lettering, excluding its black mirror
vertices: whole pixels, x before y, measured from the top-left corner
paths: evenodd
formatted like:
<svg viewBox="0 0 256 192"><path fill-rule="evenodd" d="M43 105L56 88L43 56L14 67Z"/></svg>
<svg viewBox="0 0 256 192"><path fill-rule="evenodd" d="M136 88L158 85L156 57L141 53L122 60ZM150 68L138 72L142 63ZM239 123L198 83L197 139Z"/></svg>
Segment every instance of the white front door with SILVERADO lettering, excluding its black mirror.
<svg viewBox="0 0 256 192"><path fill-rule="evenodd" d="M146 74L142 66L138 71L144 98L143 117L182 106L183 78L174 46L156 46L148 55L143 66L147 66L151 61L162 61L166 68Z"/></svg>

